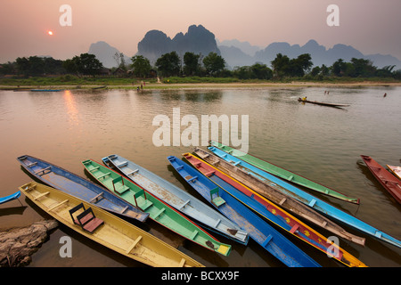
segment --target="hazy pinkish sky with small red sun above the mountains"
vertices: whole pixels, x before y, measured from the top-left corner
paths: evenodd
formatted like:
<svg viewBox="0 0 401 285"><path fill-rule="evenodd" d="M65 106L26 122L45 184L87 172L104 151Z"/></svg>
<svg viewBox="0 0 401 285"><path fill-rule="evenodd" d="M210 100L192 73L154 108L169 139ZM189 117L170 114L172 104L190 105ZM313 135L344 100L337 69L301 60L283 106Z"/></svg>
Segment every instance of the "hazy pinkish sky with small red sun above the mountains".
<svg viewBox="0 0 401 285"><path fill-rule="evenodd" d="M59 22L62 4L71 7L70 27ZM326 23L329 4L340 8L339 27ZM98 41L133 56L147 31L175 37L192 24L220 41L236 38L266 47L315 39L327 48L352 45L364 54L401 59L399 12L401 0L2 0L0 63L30 55L65 60Z"/></svg>

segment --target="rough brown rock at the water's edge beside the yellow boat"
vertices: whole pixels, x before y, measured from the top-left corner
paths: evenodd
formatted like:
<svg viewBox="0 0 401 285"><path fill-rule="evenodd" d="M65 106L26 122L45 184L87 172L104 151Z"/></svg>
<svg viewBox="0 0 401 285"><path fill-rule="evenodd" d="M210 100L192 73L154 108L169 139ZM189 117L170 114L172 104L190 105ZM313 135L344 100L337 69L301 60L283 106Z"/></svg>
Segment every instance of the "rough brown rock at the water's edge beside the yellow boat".
<svg viewBox="0 0 401 285"><path fill-rule="evenodd" d="M30 256L57 226L58 222L55 220L44 220L27 227L0 232L0 267L29 265Z"/></svg>

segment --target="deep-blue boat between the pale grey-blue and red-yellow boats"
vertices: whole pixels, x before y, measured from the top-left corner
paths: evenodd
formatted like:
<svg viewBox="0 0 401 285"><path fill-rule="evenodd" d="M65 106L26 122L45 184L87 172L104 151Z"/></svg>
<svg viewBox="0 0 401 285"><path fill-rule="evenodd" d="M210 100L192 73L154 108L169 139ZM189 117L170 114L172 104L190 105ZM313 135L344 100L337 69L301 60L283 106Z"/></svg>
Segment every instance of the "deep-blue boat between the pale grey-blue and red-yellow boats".
<svg viewBox="0 0 401 285"><path fill-rule="evenodd" d="M211 182L198 170L174 156L169 156L168 161L195 191L198 191L213 207L248 232L250 238L257 241L284 265L289 267L320 267L315 260L293 245L280 232L274 230L261 217L218 187L216 183Z"/></svg>

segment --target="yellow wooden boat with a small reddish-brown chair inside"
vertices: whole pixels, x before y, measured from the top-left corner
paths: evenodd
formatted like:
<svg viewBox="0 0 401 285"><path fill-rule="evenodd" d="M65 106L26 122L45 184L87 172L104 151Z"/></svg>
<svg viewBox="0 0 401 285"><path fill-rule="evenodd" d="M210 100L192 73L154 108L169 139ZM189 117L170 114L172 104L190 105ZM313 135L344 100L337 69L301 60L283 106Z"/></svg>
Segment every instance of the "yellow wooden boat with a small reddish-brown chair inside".
<svg viewBox="0 0 401 285"><path fill-rule="evenodd" d="M134 224L66 192L34 182L20 186L20 191L61 224L145 265L204 267Z"/></svg>

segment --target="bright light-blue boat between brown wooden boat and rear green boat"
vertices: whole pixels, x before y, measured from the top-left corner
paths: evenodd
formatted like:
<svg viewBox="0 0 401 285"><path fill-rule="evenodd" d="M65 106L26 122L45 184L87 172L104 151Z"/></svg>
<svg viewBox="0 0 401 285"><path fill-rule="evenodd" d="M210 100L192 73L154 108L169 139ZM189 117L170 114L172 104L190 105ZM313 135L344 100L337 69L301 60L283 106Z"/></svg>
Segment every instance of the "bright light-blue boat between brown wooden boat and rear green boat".
<svg viewBox="0 0 401 285"><path fill-rule="evenodd" d="M221 151L216 147L209 147L208 149L209 151L212 151L215 155L217 155L217 157L219 157L220 159L224 159L238 169L241 169L242 172L256 177L260 182L265 183L266 185L276 184L281 186L281 189L285 191L286 195L293 199L299 200L301 203L309 206L310 208L315 208L317 211L323 213L326 216L331 216L341 223L348 224L349 226L356 228L361 232L367 233L376 239L386 241L389 244L401 248L400 240L391 237L385 232L381 232L370 224L364 223L363 221L357 219L355 216L348 215L347 213L341 211L339 208L335 208L330 204L324 202L323 200L318 199L315 196L307 193L306 191L301 191L299 188L291 185L290 183L286 183L280 178L277 178L274 175L270 175L265 171L259 169L258 167L254 167L241 159L235 158L225 151Z"/></svg>

